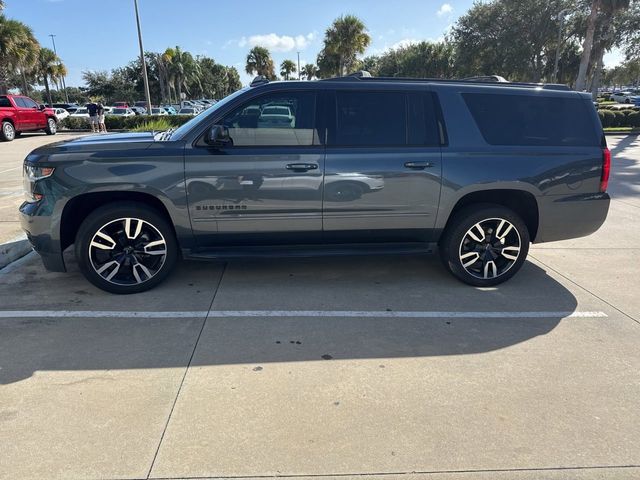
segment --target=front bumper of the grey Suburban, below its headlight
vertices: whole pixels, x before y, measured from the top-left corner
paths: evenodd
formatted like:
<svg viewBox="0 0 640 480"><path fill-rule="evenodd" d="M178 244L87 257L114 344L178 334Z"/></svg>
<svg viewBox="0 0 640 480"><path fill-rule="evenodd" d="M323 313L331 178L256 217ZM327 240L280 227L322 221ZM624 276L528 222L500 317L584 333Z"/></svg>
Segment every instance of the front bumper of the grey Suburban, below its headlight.
<svg viewBox="0 0 640 480"><path fill-rule="evenodd" d="M52 272L66 272L60 248L59 222L40 203L20 206L20 224L33 249L42 258L44 267Z"/></svg>

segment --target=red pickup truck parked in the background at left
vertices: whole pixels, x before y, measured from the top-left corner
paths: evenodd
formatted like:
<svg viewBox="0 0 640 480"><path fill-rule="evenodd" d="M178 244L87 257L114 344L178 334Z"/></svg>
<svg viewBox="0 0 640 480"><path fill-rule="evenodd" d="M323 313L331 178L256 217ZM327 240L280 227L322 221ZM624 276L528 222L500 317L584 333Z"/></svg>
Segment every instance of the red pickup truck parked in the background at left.
<svg viewBox="0 0 640 480"><path fill-rule="evenodd" d="M23 95L0 95L0 121L0 140L5 142L22 132L44 130L47 135L55 135L58 130L55 111Z"/></svg>

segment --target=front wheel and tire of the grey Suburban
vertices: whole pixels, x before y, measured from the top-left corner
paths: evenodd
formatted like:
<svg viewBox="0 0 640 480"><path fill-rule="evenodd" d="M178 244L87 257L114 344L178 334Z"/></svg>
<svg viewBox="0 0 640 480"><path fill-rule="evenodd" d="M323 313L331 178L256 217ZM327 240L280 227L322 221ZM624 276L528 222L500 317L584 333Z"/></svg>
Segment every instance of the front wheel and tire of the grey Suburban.
<svg viewBox="0 0 640 480"><path fill-rule="evenodd" d="M178 259L173 228L155 209L134 202L100 207L82 222L75 254L84 276L111 293L149 290Z"/></svg>

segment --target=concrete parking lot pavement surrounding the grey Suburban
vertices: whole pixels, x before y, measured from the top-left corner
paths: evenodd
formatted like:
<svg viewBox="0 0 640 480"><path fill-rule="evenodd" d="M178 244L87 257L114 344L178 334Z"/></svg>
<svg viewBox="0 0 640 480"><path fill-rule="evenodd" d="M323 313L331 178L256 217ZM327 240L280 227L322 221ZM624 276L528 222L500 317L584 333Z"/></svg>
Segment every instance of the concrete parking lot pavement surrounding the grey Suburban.
<svg viewBox="0 0 640 480"><path fill-rule="evenodd" d="M52 140L0 144L2 188ZM640 140L609 143L604 227L492 289L435 256L185 262L125 297L14 263L0 478L637 478Z"/></svg>

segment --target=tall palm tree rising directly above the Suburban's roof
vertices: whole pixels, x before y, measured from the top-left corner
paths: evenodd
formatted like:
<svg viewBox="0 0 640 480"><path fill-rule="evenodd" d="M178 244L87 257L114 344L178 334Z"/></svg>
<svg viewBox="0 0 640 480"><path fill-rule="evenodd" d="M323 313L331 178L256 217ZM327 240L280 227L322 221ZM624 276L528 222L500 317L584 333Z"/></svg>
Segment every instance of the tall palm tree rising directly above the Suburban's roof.
<svg viewBox="0 0 640 480"><path fill-rule="evenodd" d="M323 75L345 75L353 71L358 55L365 52L371 37L364 23L356 16L345 15L334 20L324 36L324 48L318 55L318 67Z"/></svg>

